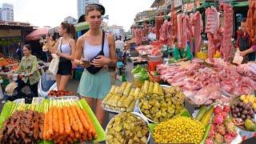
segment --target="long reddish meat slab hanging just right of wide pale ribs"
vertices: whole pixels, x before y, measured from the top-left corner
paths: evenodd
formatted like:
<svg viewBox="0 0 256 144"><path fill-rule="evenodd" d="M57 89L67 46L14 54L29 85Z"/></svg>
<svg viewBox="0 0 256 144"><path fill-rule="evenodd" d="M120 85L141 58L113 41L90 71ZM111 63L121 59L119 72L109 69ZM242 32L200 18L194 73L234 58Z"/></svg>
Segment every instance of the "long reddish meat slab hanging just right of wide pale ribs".
<svg viewBox="0 0 256 144"><path fill-rule="evenodd" d="M223 42L221 47L221 53L223 59L226 62L230 58L233 45L231 42L233 35L233 6L230 3L222 3L222 9L224 10L224 25L223 25Z"/></svg>

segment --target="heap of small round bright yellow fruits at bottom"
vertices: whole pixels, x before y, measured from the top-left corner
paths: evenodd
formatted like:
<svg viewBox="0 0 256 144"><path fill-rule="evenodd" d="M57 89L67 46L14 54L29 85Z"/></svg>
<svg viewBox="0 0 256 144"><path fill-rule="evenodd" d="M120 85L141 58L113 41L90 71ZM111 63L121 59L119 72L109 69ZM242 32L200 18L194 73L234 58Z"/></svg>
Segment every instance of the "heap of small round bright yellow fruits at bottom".
<svg viewBox="0 0 256 144"><path fill-rule="evenodd" d="M188 117L176 117L158 123L153 135L156 143L200 143L204 133L202 122Z"/></svg>

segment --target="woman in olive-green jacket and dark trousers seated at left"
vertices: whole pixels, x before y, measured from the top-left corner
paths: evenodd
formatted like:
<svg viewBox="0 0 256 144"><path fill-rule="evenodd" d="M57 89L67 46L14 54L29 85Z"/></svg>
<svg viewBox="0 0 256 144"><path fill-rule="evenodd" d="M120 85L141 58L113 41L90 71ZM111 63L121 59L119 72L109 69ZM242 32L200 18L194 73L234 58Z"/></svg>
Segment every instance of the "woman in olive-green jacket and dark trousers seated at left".
<svg viewBox="0 0 256 144"><path fill-rule="evenodd" d="M38 71L38 60L31 54L30 45L23 47L23 57L19 64L18 70L14 71L14 74L26 74L26 77L18 78L18 94L21 94L21 90L24 86L30 86L30 90L35 97L38 97L38 82L40 79L40 73ZM12 78L14 74L11 74Z"/></svg>

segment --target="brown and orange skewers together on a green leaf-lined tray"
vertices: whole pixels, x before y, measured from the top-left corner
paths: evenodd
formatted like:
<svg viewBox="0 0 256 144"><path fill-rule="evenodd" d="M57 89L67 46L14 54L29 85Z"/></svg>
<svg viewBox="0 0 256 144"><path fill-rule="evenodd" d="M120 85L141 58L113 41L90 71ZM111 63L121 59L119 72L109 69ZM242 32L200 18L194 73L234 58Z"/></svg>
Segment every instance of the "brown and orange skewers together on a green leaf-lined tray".
<svg viewBox="0 0 256 144"><path fill-rule="evenodd" d="M106 136L85 100L34 98L6 102L0 116L1 142L101 142Z"/></svg>

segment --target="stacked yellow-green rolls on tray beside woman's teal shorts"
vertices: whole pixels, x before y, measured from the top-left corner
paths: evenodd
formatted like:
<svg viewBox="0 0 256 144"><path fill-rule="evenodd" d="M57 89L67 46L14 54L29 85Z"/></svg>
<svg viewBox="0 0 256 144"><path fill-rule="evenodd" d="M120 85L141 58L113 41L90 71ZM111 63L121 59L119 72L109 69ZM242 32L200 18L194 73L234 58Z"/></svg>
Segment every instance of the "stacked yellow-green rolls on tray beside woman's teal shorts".
<svg viewBox="0 0 256 144"><path fill-rule="evenodd" d="M140 88L134 90L130 82L123 82L120 87L112 86L102 101L102 107L118 112L132 112L140 90Z"/></svg>

